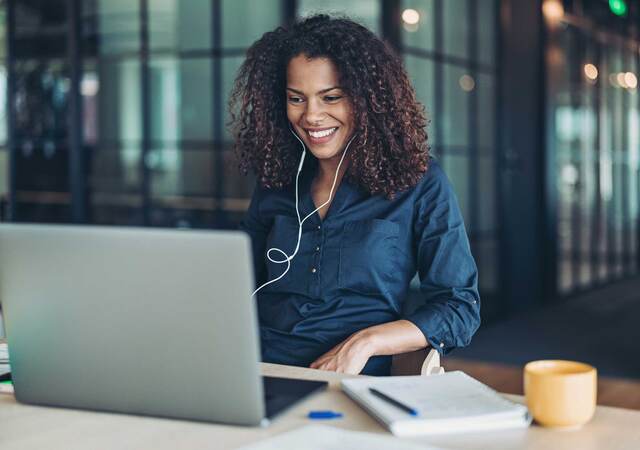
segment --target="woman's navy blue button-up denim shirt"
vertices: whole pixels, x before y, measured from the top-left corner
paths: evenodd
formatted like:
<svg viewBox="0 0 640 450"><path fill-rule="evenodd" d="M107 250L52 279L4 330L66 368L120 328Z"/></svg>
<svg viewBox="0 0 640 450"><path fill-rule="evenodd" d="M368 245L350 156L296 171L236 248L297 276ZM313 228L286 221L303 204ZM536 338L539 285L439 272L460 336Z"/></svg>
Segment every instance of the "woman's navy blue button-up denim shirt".
<svg viewBox="0 0 640 450"><path fill-rule="evenodd" d="M317 160L301 173L300 216L314 209L311 182ZM309 161L310 160L310 161ZM269 261L276 247L295 250L295 184L256 187L241 229L251 237L256 285L287 264ZM272 259L282 260L280 252ZM411 279L420 278L421 306L403 315ZM420 182L388 200L343 178L324 219L303 224L287 274L257 294L262 358L308 366L351 334L406 319L441 353L466 346L480 324L478 273L452 186L431 160ZM363 373L389 373L391 358L370 358Z"/></svg>

